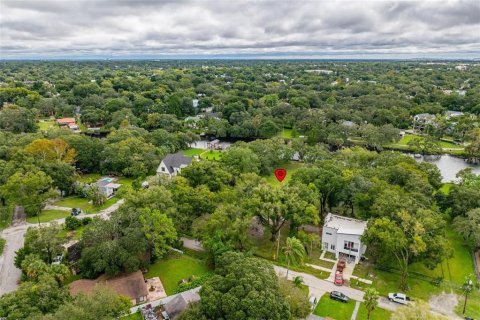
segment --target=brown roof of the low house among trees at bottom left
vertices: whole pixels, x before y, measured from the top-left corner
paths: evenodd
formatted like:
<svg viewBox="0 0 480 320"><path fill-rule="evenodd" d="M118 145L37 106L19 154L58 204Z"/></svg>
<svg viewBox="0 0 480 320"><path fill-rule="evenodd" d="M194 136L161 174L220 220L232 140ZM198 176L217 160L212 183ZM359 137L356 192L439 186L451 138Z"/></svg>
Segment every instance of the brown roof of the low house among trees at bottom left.
<svg viewBox="0 0 480 320"><path fill-rule="evenodd" d="M70 294L75 296L79 293L90 294L96 286L103 285L118 295L126 296L133 304L147 301L148 288L142 272L130 273L115 278L103 275L95 280L81 279L70 284Z"/></svg>

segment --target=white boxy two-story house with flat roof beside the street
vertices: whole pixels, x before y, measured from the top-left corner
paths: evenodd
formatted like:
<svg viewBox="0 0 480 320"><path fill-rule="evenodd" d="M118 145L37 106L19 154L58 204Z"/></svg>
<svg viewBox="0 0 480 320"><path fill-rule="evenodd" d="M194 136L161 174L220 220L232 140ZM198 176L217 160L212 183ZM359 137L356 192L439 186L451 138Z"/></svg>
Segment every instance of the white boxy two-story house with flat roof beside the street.
<svg viewBox="0 0 480 320"><path fill-rule="evenodd" d="M361 238L367 229L367 221L329 213L322 230L322 249L358 263L367 246Z"/></svg>

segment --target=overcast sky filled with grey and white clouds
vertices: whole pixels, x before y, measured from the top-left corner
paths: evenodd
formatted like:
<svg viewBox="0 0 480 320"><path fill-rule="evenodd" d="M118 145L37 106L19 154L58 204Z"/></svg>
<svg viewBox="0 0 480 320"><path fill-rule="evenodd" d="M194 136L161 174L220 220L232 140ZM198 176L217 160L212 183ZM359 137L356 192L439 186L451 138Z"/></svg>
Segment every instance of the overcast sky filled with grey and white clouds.
<svg viewBox="0 0 480 320"><path fill-rule="evenodd" d="M480 57L480 0L0 0L0 58Z"/></svg>

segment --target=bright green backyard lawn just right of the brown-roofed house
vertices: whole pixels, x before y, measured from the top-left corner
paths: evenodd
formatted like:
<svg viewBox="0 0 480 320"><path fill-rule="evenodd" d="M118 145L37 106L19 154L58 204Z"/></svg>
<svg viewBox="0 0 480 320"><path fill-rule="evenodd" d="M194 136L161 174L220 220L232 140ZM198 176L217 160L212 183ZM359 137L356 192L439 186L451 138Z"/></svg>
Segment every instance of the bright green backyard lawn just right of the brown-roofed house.
<svg viewBox="0 0 480 320"><path fill-rule="evenodd" d="M150 265L145 277L160 277L166 293L171 295L175 293L180 280L188 280L192 275L200 277L208 271L209 269L204 261L187 255L172 253L169 257Z"/></svg>

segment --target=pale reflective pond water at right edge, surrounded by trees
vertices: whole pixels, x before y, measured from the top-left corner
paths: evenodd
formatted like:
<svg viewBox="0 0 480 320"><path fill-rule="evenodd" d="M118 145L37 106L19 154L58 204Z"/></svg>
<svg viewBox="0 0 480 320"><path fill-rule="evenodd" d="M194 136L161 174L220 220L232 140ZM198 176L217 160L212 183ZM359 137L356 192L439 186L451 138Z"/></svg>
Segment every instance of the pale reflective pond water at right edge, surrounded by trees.
<svg viewBox="0 0 480 320"><path fill-rule="evenodd" d="M410 154L413 157L413 154ZM451 156L448 154L444 154L441 156L422 156L422 157L415 157L415 160L418 162L430 162L434 163L438 169L440 169L440 173L442 174L442 182L453 182L455 181L456 175L459 171L465 168L472 168L473 172L476 174L480 174L480 165L474 165L468 163L463 158Z"/></svg>

